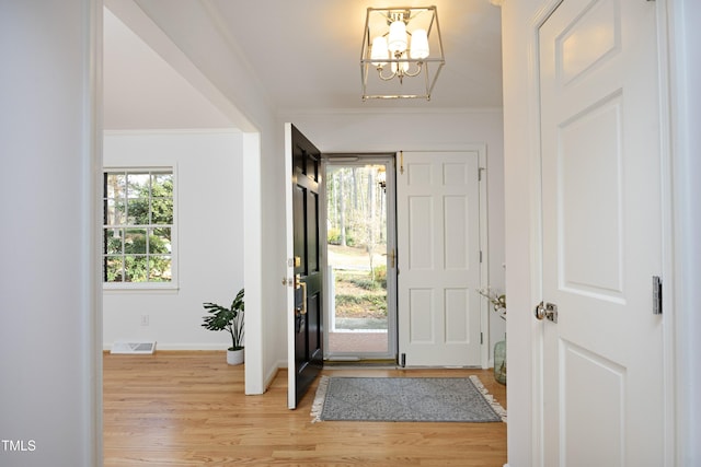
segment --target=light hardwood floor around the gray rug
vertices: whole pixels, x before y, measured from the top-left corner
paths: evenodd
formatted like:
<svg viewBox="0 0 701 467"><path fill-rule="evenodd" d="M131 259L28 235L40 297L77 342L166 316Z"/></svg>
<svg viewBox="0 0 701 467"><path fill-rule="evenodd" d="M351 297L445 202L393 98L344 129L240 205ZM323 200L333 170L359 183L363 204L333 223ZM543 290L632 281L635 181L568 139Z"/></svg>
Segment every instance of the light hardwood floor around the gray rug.
<svg viewBox="0 0 701 467"><path fill-rule="evenodd" d="M363 376L478 374L482 370L325 370ZM287 409L287 373L243 395L243 366L223 352L104 355L105 466L490 466L506 463L505 423L311 423L315 386Z"/></svg>

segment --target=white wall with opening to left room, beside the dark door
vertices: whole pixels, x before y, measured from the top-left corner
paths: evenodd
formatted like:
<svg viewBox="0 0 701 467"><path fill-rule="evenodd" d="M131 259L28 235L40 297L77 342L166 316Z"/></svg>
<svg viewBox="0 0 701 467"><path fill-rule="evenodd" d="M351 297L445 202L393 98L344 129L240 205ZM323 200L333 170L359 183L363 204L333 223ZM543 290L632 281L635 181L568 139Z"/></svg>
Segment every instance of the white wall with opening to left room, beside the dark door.
<svg viewBox="0 0 701 467"><path fill-rule="evenodd" d="M245 392L261 394L277 371L277 342L268 338L268 329L278 325L278 311L285 306L285 289L279 285L279 278L286 272L284 211L279 202L285 189L280 165L281 126L275 120L258 80L248 67L242 66L245 59L218 34L218 27L212 23L215 19L202 2L179 3L177 9L170 3L137 4L130 0L105 0L105 4L202 97L226 116L231 126L244 131L242 171L245 173L245 232L242 273L246 291ZM159 17L159 24L152 17ZM197 34L192 34L193 31L197 31ZM177 43L173 42L174 38L177 38ZM203 44L205 49L217 52L197 52ZM171 78L170 82L176 84L176 81ZM142 100L133 98L131 102L140 103ZM202 107L198 105L198 108ZM218 120L216 113L214 116L206 114L211 117L209 121ZM150 115L153 116L153 113ZM188 120L192 121L191 118ZM262 171L265 174L265 187L262 187Z"/></svg>

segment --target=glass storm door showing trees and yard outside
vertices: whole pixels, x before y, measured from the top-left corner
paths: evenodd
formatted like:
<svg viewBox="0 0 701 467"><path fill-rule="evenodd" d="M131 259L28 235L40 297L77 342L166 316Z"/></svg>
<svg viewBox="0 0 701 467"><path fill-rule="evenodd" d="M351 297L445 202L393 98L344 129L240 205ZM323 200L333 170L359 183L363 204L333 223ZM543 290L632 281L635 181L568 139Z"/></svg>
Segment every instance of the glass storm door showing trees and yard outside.
<svg viewBox="0 0 701 467"><path fill-rule="evenodd" d="M327 156L326 326L330 361L397 359L393 155Z"/></svg>

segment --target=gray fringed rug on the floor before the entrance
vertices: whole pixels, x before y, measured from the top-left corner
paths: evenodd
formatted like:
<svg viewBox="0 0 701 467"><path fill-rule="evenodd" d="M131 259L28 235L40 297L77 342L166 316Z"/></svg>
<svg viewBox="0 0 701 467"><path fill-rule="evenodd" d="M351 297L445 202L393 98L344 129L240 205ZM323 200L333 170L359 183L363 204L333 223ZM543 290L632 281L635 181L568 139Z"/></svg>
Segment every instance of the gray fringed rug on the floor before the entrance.
<svg viewBox="0 0 701 467"><path fill-rule="evenodd" d="M312 422L506 421L506 410L489 395L476 376L322 376L311 415Z"/></svg>

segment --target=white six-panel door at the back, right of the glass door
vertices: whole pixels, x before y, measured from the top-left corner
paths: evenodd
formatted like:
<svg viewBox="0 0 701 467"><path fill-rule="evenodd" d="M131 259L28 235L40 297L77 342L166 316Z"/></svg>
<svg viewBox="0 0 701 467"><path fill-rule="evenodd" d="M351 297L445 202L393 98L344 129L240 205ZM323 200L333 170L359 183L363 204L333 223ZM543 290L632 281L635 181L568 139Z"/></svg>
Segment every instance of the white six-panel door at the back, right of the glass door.
<svg viewBox="0 0 701 467"><path fill-rule="evenodd" d="M404 152L400 163L400 355L407 366L479 365L479 154Z"/></svg>

